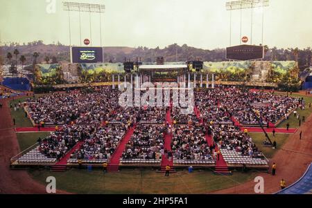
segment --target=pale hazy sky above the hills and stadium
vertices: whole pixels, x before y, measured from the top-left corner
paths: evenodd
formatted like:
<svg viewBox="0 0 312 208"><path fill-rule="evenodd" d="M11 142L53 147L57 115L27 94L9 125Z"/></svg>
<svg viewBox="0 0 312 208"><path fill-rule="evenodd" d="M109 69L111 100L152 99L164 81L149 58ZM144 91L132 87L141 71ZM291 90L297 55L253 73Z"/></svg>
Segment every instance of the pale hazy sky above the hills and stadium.
<svg viewBox="0 0 312 208"><path fill-rule="evenodd" d="M83 44L78 12L63 11L62 1L0 0L2 44L43 40L45 44L60 41L69 45L69 37L71 45ZM262 42L262 8L254 8L253 13L243 10L241 27L240 10L232 12L230 24L231 12L225 9L230 0L64 1L105 4L101 16L103 46L164 48L176 43L204 49L225 48L241 44L241 36L251 39L251 28L252 44ZM270 0L270 6L263 8L263 44L278 48L312 47L311 11L311 0ZM81 13L80 17L81 39L101 46L100 15L91 15L92 36L89 14Z"/></svg>

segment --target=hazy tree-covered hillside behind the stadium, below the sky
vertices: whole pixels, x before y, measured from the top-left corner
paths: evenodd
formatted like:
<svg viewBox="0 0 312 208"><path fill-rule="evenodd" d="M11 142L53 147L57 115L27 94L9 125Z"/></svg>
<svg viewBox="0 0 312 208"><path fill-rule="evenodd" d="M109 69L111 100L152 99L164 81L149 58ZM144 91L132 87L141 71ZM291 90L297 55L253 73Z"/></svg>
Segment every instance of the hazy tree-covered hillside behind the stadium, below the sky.
<svg viewBox="0 0 312 208"><path fill-rule="evenodd" d="M45 64L45 57L49 57L50 63L69 62L69 46L58 44L44 44L42 41L33 41L28 44L10 44L10 46L2 46L2 53L4 62L9 63L6 55L17 48L19 50L19 57L25 55L26 65L33 64L33 53L39 53L37 63ZM291 49L295 51L295 49ZM266 53L265 61L292 61L295 60L295 53L284 48L270 48ZM18 57L18 59L19 59ZM54 57L54 58L53 58ZM205 62L224 62L225 48L216 48L214 50L204 50L201 48L194 48L184 44L179 46L171 44L165 48L147 48L139 46L138 48L130 47L104 47L104 62L118 63L123 62L125 58L135 59L141 57L141 62L155 62L156 57L164 57L165 62L185 62L187 60L202 59ZM312 62L312 53L309 48L298 50L298 62L301 69L307 68ZM15 55L12 56L14 62ZM19 61L18 61L19 62Z"/></svg>

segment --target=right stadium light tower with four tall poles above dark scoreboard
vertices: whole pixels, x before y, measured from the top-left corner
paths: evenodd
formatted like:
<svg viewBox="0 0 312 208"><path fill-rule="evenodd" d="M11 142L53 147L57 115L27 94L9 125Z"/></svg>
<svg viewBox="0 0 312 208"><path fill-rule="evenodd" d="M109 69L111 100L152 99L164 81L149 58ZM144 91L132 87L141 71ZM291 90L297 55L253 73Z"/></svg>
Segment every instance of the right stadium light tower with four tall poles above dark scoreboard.
<svg viewBox="0 0 312 208"><path fill-rule="evenodd" d="M263 8L269 6L269 0L240 0L240 1L227 1L225 7L227 10L231 12L230 14L230 45L232 42L232 10L242 10L251 9L251 35L250 35L250 42L252 44L252 23L253 23L253 9L254 8L262 8L262 41L261 44L263 45L263 20L264 20L264 11ZM242 24L242 17L241 17L241 24ZM242 34L241 34L242 37Z"/></svg>

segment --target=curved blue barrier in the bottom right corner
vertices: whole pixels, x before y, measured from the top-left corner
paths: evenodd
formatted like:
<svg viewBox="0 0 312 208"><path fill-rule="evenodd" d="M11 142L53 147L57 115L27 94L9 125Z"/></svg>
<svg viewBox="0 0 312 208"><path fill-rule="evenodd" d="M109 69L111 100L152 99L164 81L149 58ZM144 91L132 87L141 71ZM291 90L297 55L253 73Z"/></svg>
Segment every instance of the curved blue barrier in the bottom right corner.
<svg viewBox="0 0 312 208"><path fill-rule="evenodd" d="M306 194L306 193L312 193L312 165L309 165L309 168L306 170L304 175L293 183L293 185L290 185L289 187L286 187L286 189L283 189L276 194Z"/></svg>

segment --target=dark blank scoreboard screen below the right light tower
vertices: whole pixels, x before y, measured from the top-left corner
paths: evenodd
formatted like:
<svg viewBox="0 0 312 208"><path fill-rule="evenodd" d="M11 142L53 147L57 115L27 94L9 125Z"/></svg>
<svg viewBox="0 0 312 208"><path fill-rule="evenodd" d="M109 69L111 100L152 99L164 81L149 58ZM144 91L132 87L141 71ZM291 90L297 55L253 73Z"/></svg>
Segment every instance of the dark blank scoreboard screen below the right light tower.
<svg viewBox="0 0 312 208"><path fill-rule="evenodd" d="M241 45L227 48L227 59L247 61L263 59L263 46Z"/></svg>

